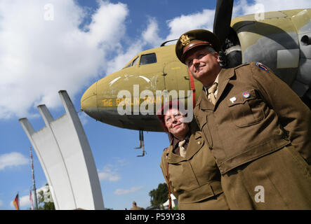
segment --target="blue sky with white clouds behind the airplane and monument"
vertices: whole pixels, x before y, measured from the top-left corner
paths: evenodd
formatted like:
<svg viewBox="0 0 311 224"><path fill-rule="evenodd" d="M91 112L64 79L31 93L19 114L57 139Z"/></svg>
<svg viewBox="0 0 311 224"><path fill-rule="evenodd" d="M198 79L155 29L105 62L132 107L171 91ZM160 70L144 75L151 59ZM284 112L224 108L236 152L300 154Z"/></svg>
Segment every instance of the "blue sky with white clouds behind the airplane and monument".
<svg viewBox="0 0 311 224"><path fill-rule="evenodd" d="M54 17L44 19L51 3ZM309 0L235 1L233 17L265 11L311 8ZM29 204L32 175L31 144L19 118L28 118L37 131L44 127L37 106L46 104L54 118L62 108L58 90L67 90L77 111L84 91L103 76L121 69L142 50L178 38L189 29L210 29L216 1L61 1L0 2L0 209ZM257 7L257 9L256 9ZM129 209L135 200L150 205L150 190L164 183L159 168L164 133L145 132L147 155L138 146L138 131L113 127L79 113L100 177L105 207ZM46 177L34 153L37 188Z"/></svg>

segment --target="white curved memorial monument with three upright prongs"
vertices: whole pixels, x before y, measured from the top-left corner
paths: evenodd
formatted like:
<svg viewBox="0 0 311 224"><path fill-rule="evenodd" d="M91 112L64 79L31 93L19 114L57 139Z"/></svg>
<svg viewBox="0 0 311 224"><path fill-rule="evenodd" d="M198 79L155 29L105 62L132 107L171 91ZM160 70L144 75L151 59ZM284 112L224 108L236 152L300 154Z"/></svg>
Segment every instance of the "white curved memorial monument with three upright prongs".
<svg viewBox="0 0 311 224"><path fill-rule="evenodd" d="M104 209L91 147L65 90L58 92L66 113L54 120L45 105L38 106L46 127L38 132L27 118L20 123L37 153L50 186L55 209Z"/></svg>

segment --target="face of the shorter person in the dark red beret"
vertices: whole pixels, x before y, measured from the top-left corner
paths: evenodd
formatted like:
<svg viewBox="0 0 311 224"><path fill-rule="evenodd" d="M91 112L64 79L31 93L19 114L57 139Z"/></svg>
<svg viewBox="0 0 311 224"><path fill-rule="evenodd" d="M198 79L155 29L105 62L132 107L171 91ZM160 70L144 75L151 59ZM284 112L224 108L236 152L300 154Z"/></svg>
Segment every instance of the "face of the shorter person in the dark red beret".
<svg viewBox="0 0 311 224"><path fill-rule="evenodd" d="M183 139L189 131L188 123L183 123L184 116L178 109L169 109L164 116L164 123L169 133L178 139Z"/></svg>

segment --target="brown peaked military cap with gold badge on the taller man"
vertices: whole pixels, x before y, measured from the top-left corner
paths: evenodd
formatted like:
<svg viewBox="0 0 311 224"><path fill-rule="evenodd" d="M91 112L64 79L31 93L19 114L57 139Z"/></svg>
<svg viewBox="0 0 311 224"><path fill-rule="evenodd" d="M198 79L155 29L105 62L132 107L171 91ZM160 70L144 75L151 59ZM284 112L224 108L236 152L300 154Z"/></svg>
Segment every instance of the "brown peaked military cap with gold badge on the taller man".
<svg viewBox="0 0 311 224"><path fill-rule="evenodd" d="M186 52L201 45L210 45L217 52L220 51L220 41L215 34L207 29L194 29L180 36L176 43L176 56L185 64Z"/></svg>

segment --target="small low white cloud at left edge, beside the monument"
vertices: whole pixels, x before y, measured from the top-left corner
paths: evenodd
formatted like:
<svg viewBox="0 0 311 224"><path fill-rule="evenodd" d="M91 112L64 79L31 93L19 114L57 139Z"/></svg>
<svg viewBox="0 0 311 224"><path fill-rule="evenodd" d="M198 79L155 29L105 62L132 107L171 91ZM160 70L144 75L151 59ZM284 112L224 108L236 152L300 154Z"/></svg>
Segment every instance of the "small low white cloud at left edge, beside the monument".
<svg viewBox="0 0 311 224"><path fill-rule="evenodd" d="M21 153L6 153L0 155L0 170L6 167L18 167L29 164L29 160Z"/></svg>

